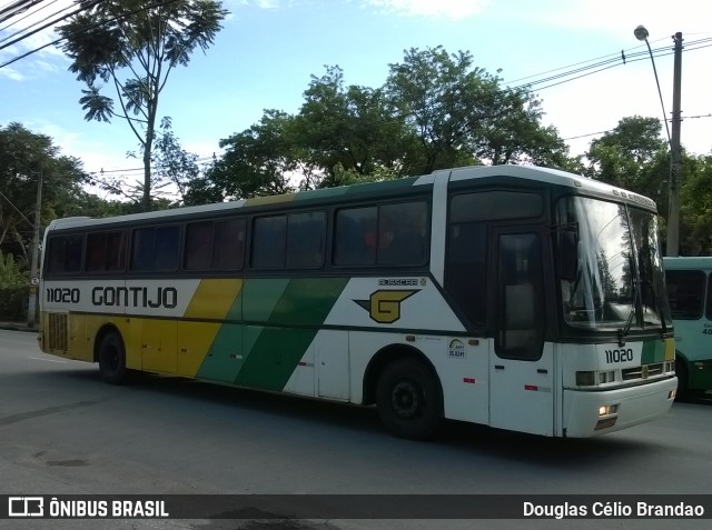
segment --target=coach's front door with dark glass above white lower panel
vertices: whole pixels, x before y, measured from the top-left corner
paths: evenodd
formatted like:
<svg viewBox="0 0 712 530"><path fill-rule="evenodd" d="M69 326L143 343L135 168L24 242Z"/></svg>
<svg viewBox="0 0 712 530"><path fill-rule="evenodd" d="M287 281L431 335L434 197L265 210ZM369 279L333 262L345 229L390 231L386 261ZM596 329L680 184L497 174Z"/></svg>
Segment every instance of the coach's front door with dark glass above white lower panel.
<svg viewBox="0 0 712 530"><path fill-rule="evenodd" d="M554 433L554 352L545 342L542 233L494 230L491 258L494 340L490 352L490 424Z"/></svg>

